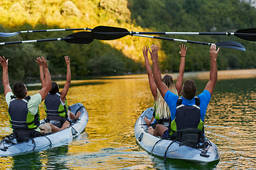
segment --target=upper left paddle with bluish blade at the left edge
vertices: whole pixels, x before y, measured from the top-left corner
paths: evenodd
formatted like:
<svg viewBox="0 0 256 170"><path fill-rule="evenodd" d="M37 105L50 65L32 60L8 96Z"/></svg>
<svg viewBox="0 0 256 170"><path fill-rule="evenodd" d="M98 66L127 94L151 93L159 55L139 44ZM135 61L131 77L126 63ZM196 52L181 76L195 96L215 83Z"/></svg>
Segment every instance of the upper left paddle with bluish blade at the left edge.
<svg viewBox="0 0 256 170"><path fill-rule="evenodd" d="M50 30L21 30L15 33L1 33L0 37L11 37L20 33L41 33L41 32L52 32L52 31L63 31L63 30L88 30L88 28L65 28L65 29L50 29ZM91 29L90 29L91 30Z"/></svg>

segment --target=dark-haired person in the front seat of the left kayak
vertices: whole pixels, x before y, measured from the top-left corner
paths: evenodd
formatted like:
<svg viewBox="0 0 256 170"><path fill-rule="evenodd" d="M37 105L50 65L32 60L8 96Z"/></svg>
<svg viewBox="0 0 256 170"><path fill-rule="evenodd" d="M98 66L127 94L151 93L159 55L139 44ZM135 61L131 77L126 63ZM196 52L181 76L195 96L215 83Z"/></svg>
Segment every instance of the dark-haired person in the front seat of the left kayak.
<svg viewBox="0 0 256 170"><path fill-rule="evenodd" d="M43 67L40 61L37 61L40 68L40 79L42 87L45 84L45 79L43 77ZM44 101L44 107L46 111L46 120L58 128L63 126L63 123L68 119L77 120L81 113L78 111L76 115L68 110L68 102L65 98L68 94L68 89L71 83L71 70L70 70L70 58L65 56L65 63L67 65L67 75L66 82L63 90L59 92L59 86L56 82L51 83L51 89L46 100Z"/></svg>

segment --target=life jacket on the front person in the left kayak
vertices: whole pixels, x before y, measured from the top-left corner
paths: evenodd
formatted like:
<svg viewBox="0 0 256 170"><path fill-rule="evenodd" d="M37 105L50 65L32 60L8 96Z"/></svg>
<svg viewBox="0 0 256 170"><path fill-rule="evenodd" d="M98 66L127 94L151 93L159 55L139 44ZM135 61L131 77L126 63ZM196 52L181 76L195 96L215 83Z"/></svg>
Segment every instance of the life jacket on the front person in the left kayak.
<svg viewBox="0 0 256 170"><path fill-rule="evenodd" d="M65 106L60 102L60 92L56 94L48 94L44 101L44 108L46 111L46 120L50 123L51 120L58 120L57 125L61 128L65 120L68 120L68 101L65 99Z"/></svg>

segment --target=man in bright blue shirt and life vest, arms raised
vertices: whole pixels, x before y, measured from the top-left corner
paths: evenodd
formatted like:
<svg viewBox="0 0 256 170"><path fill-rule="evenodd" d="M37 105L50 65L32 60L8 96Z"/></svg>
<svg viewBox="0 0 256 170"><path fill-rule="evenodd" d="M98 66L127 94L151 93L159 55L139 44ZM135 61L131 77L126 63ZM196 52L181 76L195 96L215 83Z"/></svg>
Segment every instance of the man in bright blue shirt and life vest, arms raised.
<svg viewBox="0 0 256 170"><path fill-rule="evenodd" d="M196 99L197 90L195 82L187 79L183 83L182 96L180 101L178 101L178 96L169 91L167 86L161 81L157 47L156 45L151 45L151 51L149 50L149 52L153 62L154 81L171 111L171 125L169 128L160 124L156 125L154 130L155 136L171 137L172 133L186 128L203 129L206 109L217 82L218 68L216 60L219 50L219 48L216 50L216 45L210 46L210 79L204 91L197 96L198 99Z"/></svg>

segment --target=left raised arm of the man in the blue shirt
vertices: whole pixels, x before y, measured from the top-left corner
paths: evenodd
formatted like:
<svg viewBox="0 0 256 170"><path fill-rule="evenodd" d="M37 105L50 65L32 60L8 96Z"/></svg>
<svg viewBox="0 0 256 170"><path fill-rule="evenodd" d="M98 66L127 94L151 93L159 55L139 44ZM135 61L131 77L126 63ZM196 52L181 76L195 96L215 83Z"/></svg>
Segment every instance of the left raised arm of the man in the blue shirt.
<svg viewBox="0 0 256 170"><path fill-rule="evenodd" d="M158 64L158 52L157 52L157 47L156 45L151 45L151 50L149 50L149 53L151 55L151 60L153 62L153 75L154 75L154 81L156 83L156 86L158 87L161 96L166 94L167 91L169 91L168 87L166 84L164 84L163 81L161 81L161 72L159 70L159 64Z"/></svg>

